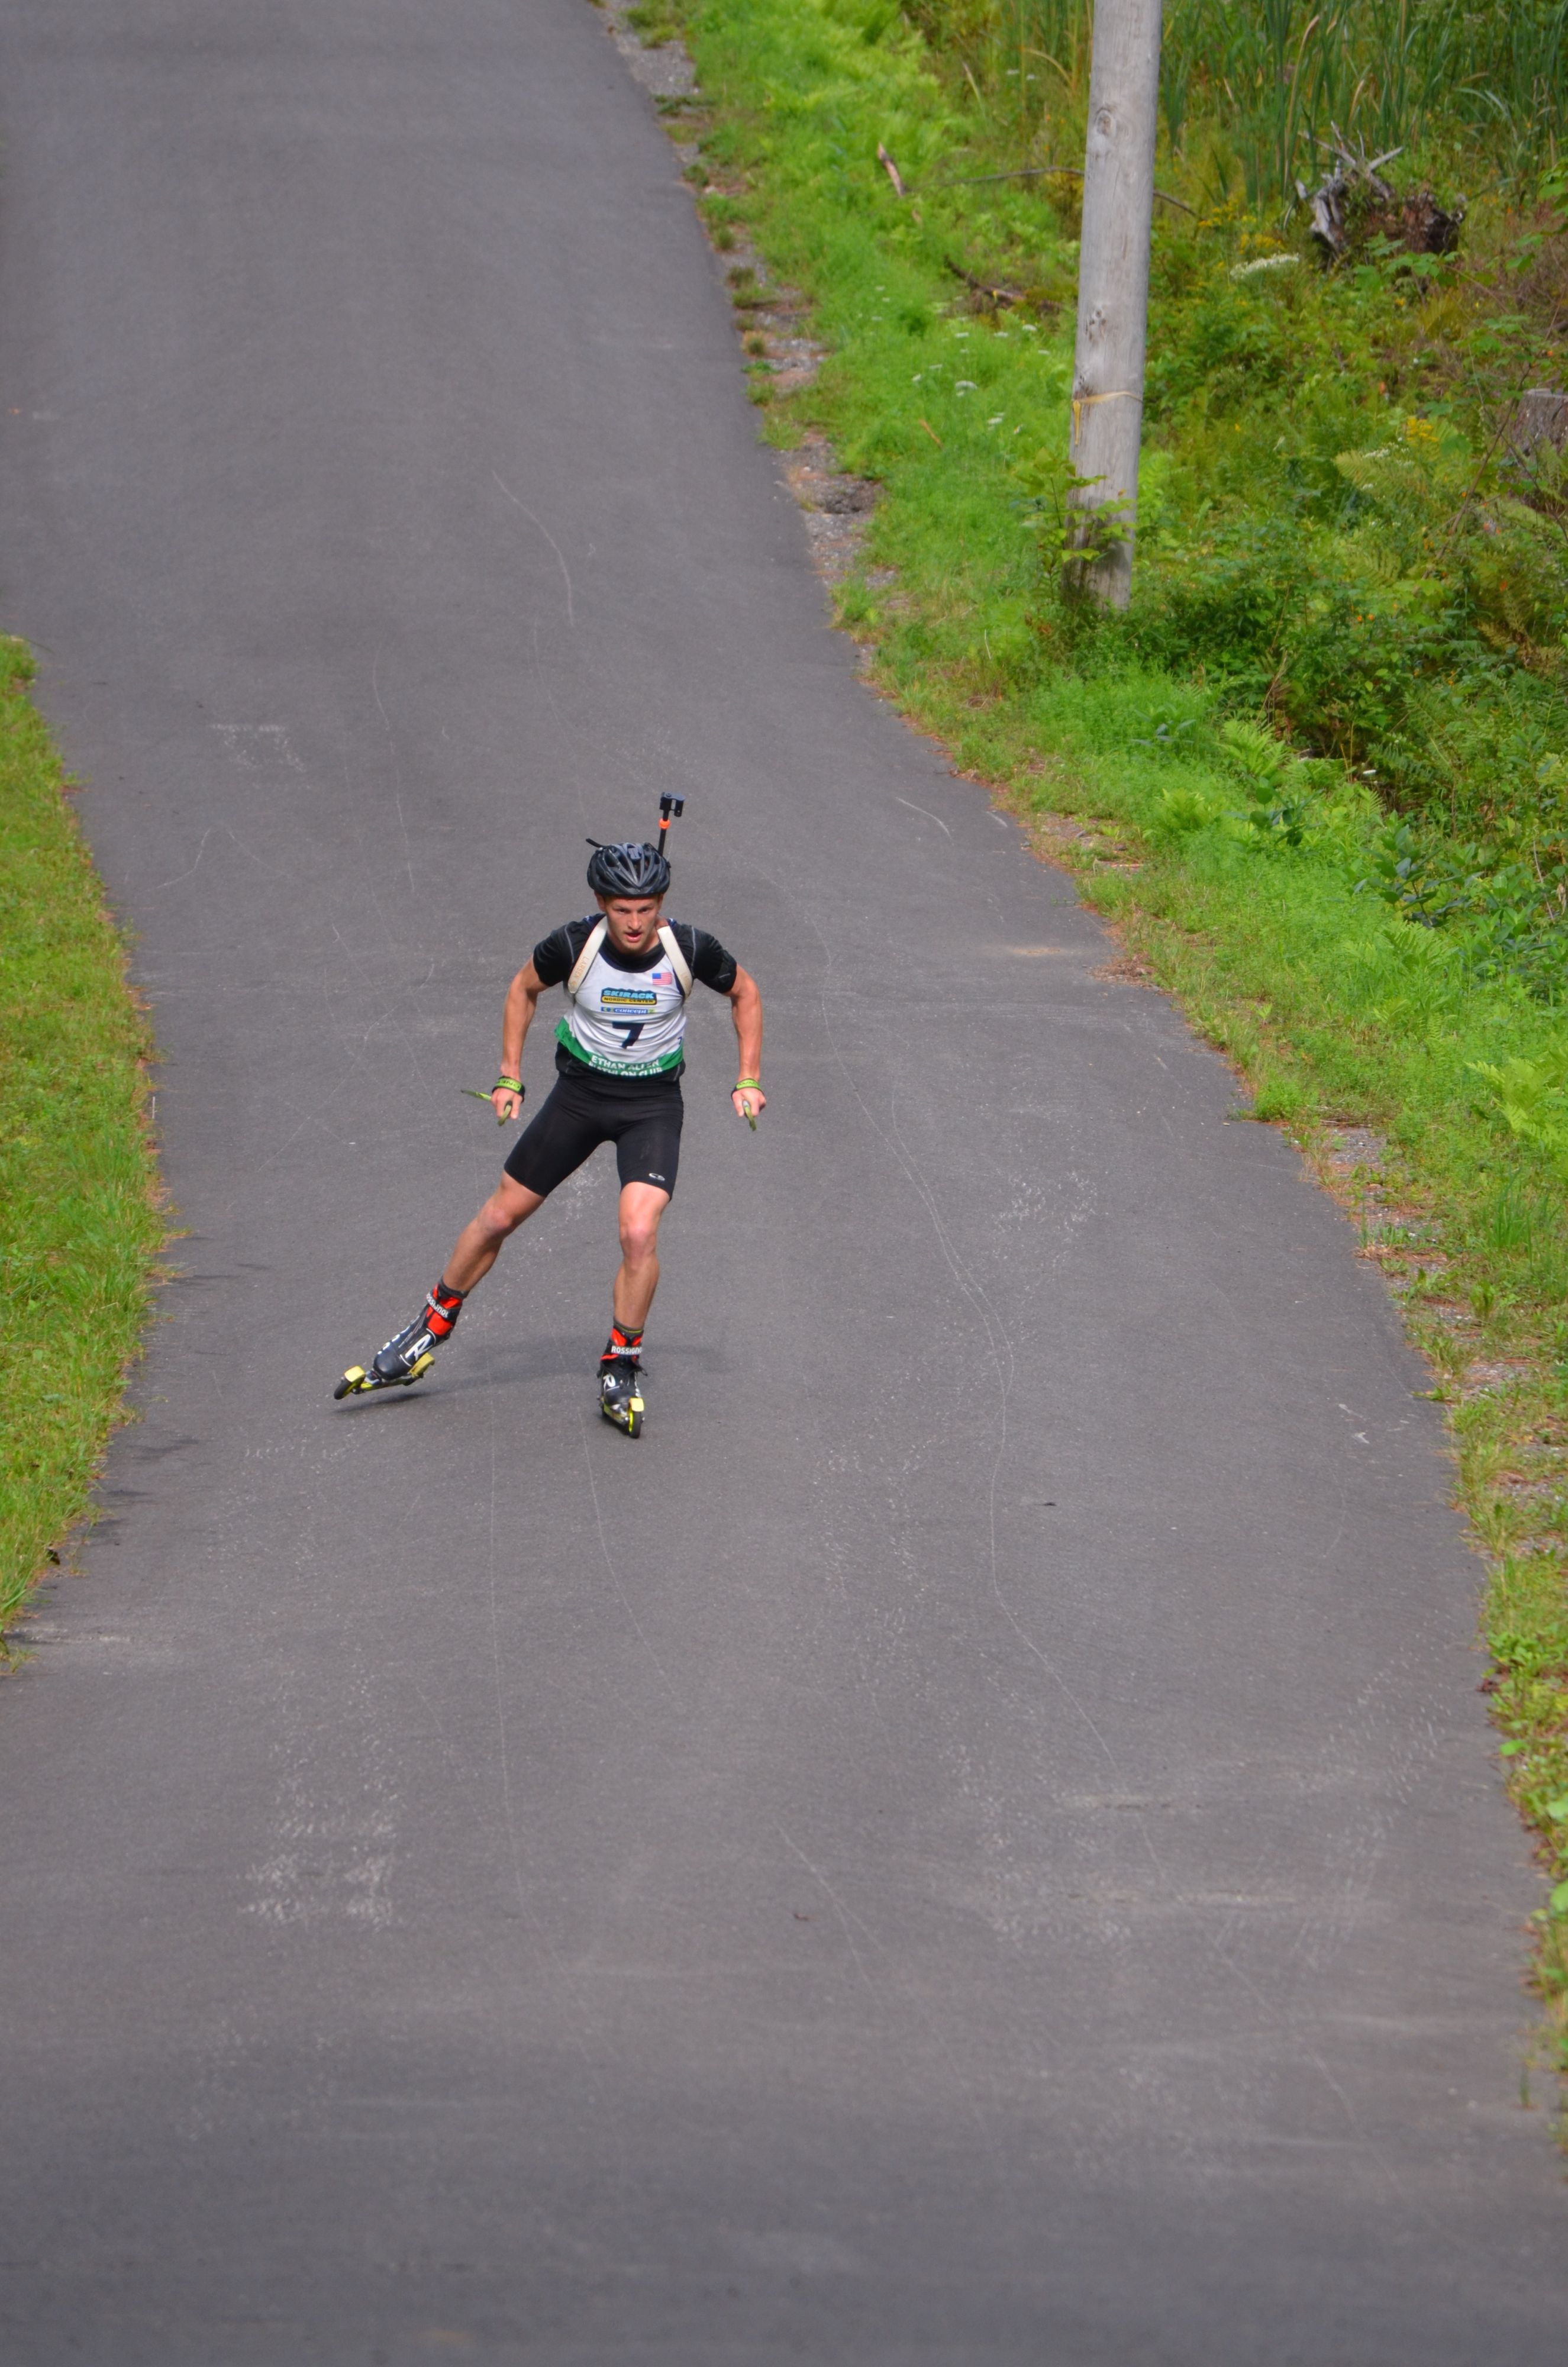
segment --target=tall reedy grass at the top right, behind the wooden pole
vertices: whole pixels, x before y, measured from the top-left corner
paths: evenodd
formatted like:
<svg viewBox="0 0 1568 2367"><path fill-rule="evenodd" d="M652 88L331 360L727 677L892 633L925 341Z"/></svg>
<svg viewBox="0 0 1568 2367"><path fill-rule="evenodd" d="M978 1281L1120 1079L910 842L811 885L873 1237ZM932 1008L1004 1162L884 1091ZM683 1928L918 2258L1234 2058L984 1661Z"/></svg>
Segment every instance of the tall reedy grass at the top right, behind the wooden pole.
<svg viewBox="0 0 1568 2367"><path fill-rule="evenodd" d="M1094 0L914 0L910 14L1030 154L1078 128ZM1170 0L1161 64L1172 154L1215 199L1289 201L1338 125L1379 149L1454 140L1504 175L1566 128L1568 0ZM1239 178L1232 192L1229 178Z"/></svg>

